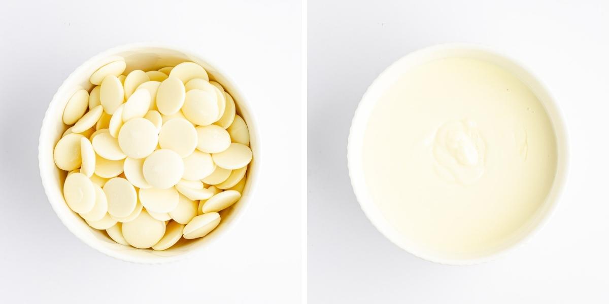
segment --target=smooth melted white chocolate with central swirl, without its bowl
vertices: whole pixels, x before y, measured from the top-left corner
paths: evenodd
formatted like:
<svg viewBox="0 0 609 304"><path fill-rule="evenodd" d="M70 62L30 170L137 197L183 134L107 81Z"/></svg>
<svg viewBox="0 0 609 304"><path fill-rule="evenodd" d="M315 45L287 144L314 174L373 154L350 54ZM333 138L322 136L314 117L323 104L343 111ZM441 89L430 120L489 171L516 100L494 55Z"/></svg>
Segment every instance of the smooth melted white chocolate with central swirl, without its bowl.
<svg viewBox="0 0 609 304"><path fill-rule="evenodd" d="M487 61L443 58L410 69L379 98L363 162L373 201L405 241L477 257L543 204L557 148L522 81Z"/></svg>

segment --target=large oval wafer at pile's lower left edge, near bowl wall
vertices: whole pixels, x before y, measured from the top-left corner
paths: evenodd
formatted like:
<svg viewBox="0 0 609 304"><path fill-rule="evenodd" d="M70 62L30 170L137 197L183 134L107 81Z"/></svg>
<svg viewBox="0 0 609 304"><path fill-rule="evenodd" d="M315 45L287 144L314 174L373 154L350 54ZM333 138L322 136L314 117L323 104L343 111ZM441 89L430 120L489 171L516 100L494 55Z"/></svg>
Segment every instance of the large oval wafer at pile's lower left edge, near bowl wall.
<svg viewBox="0 0 609 304"><path fill-rule="evenodd" d="M87 213L95 206L93 182L82 173L72 173L63 183L63 198L76 213Z"/></svg>

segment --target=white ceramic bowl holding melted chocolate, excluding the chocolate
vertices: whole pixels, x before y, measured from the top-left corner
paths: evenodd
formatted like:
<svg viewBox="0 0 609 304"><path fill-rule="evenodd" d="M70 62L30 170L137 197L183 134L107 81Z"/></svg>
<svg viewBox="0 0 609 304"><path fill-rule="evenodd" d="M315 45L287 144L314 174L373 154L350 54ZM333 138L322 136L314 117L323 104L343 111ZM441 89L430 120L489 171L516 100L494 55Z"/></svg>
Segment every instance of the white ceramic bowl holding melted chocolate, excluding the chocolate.
<svg viewBox="0 0 609 304"><path fill-rule="evenodd" d="M364 170L362 164L362 146L364 143L364 131L367 127L368 119L370 114L375 107L376 101L381 97L381 94L387 90L387 88L412 67L419 66L420 64L426 63L431 60L446 57L465 57L465 58L476 58L479 60L489 61L491 63L498 64L499 66L507 69L516 75L523 83L525 83L532 92L537 95L541 104L546 108L546 112L552 121L554 126L554 132L557 140L557 169L554 184L547 195L546 201L537 210L533 218L522 227L515 235L507 241L504 246L482 255L476 258L451 258L442 255L435 254L423 249L418 244L404 240L403 236L400 235L384 218L375 202L372 201L370 194L368 193L368 187L365 184ZM427 47L425 49L417 50L409 55L396 61L385 71L376 78L375 81L370 85L370 88L365 92L362 97L359 106L353 117L351 123L351 130L349 134L348 142L348 167L349 175L351 178L351 185L359 201L362 210L372 224L378 229L386 238L392 243L402 249L410 252L417 257L423 258L424 260L434 261L442 264L476 264L484 261L493 260L499 255L503 255L506 252L518 247L518 245L525 243L529 238L540 229L541 226L547 221L555 206L557 204L560 193L565 187L566 178L568 175L568 140L563 122L563 116L558 109L555 102L555 98L552 97L546 86L544 86L538 78L534 77L529 71L523 68L523 66L517 63L515 60L506 57L505 55L499 54L494 50L487 49L486 47L477 46L473 44L440 44L437 46Z"/></svg>

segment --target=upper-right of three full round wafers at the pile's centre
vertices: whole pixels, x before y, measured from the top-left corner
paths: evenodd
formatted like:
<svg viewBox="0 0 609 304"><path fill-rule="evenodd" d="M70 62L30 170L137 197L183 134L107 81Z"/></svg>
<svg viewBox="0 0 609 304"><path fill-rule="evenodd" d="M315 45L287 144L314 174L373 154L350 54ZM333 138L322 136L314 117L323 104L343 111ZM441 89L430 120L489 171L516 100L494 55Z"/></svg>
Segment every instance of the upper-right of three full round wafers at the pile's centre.
<svg viewBox="0 0 609 304"><path fill-rule="evenodd" d="M186 157L197 148L197 131L188 120L175 118L161 127L158 144L163 149L178 153L180 157Z"/></svg>

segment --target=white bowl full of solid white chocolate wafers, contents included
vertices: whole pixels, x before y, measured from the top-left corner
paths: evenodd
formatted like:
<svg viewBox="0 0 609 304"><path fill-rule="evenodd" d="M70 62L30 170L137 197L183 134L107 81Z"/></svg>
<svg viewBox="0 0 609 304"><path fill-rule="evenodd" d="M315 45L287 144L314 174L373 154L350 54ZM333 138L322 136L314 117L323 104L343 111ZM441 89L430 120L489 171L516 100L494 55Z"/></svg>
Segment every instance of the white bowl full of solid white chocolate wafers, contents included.
<svg viewBox="0 0 609 304"><path fill-rule="evenodd" d="M52 98L40 131L44 191L100 252L164 263L213 247L244 214L259 165L250 104L186 50L114 47Z"/></svg>

